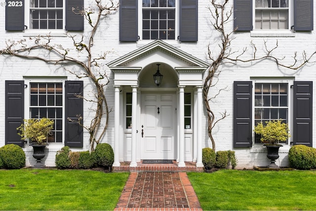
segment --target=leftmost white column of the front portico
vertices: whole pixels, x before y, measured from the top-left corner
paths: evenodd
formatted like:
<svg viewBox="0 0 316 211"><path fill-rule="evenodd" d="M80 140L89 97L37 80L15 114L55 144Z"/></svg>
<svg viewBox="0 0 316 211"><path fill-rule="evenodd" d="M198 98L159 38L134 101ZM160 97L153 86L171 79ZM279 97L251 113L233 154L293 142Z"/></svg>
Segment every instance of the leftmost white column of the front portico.
<svg viewBox="0 0 316 211"><path fill-rule="evenodd" d="M119 86L114 86L114 163L113 166L120 166L119 163Z"/></svg>

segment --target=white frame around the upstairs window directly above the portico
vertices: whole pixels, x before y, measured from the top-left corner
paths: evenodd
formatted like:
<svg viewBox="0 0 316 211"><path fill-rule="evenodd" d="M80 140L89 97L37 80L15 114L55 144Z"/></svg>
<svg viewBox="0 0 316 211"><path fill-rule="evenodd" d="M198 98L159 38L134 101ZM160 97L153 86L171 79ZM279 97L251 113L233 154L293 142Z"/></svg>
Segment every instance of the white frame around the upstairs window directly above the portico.
<svg viewBox="0 0 316 211"><path fill-rule="evenodd" d="M177 41L179 37L179 0L175 0L175 27L174 27L174 39L164 39L163 41L172 42ZM143 1L138 1L138 35L139 39L145 42L152 42L153 39L143 39Z"/></svg>

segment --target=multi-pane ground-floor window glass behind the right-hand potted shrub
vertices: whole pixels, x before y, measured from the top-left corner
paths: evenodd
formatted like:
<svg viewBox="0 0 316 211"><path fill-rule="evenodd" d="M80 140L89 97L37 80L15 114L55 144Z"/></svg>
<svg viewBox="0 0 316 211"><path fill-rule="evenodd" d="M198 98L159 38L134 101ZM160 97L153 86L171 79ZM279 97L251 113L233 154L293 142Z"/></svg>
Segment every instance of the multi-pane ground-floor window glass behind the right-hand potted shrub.
<svg viewBox="0 0 316 211"><path fill-rule="evenodd" d="M288 123L288 83L255 83L255 125L282 119ZM261 143L255 134L255 143Z"/></svg>

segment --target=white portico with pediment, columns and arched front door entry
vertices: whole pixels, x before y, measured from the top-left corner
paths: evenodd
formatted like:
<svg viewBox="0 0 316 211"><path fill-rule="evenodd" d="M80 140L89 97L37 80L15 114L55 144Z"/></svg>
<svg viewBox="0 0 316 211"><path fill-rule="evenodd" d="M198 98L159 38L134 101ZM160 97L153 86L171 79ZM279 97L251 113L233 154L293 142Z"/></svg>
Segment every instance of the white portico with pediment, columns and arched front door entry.
<svg viewBox="0 0 316 211"><path fill-rule="evenodd" d="M160 64L162 83L153 74ZM202 74L208 64L156 40L108 64L114 72L114 167L143 159L202 167Z"/></svg>

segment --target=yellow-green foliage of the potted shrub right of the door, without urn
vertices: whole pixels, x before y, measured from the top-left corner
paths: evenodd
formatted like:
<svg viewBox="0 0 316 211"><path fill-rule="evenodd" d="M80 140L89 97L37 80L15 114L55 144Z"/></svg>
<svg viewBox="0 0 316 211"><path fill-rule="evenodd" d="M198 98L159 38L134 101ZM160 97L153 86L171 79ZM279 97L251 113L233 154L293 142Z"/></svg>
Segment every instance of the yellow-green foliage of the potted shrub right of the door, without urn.
<svg viewBox="0 0 316 211"><path fill-rule="evenodd" d="M259 122L254 132L261 135L262 142L268 142L270 144L278 144L279 141L286 141L289 137L288 124L282 122L282 119L266 121L264 125Z"/></svg>

